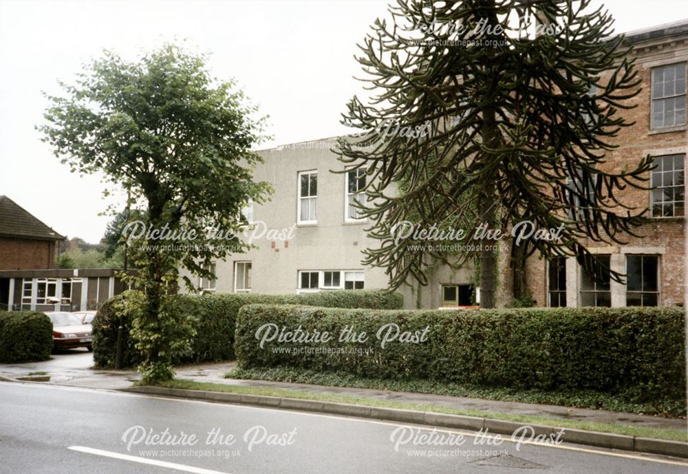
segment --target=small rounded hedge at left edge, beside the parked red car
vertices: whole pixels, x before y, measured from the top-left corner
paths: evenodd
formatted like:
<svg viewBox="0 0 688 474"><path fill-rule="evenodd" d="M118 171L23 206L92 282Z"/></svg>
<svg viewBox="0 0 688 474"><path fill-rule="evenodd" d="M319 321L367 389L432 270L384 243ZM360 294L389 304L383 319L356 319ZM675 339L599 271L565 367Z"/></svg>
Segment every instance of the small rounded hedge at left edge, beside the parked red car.
<svg viewBox="0 0 688 474"><path fill-rule="evenodd" d="M52 344L52 323L45 314L0 312L0 363L47 360Z"/></svg>

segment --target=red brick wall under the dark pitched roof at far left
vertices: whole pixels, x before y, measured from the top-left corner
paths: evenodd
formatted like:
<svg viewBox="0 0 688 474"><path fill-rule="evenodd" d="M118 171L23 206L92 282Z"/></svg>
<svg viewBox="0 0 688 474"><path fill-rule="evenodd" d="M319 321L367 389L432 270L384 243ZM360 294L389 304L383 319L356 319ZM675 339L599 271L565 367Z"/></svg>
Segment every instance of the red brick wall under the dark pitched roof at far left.
<svg viewBox="0 0 688 474"><path fill-rule="evenodd" d="M54 268L55 241L0 237L0 270Z"/></svg>

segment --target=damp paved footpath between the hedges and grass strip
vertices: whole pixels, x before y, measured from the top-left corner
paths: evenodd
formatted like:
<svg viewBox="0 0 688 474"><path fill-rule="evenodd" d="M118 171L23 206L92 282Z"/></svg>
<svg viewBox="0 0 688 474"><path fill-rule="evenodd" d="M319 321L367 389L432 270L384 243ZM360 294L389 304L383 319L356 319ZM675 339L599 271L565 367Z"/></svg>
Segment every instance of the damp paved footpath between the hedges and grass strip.
<svg viewBox="0 0 688 474"><path fill-rule="evenodd" d="M39 363L0 365L0 377L17 380L28 376L30 372L45 371L50 380L46 383L88 387L96 389L123 389L131 387L138 379L135 371L94 370L92 354L78 350L55 354L51 360ZM250 387L269 387L289 389L316 394L336 394L389 400L394 402L420 405L436 405L455 409L482 410L520 415L548 416L586 422L619 422L632 426L687 429L685 419L659 418L656 416L619 413L605 410L559 407L556 405L537 405L519 402L498 402L479 398L413 394L408 392L351 389L344 387L323 387L297 383L269 382L266 380L236 380L224 378L224 374L234 367L234 363L215 363L187 365L178 368L178 378L197 380L198 382L222 383L226 385L244 385Z"/></svg>

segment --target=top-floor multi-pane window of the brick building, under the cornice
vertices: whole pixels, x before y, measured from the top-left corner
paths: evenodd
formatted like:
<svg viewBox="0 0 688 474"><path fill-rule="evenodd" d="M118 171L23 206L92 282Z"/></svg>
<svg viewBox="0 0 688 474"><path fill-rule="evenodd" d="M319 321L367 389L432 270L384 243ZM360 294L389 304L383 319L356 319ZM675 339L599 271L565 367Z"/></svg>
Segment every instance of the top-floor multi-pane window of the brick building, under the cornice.
<svg viewBox="0 0 688 474"><path fill-rule="evenodd" d="M652 69L652 128L686 122L686 63Z"/></svg>

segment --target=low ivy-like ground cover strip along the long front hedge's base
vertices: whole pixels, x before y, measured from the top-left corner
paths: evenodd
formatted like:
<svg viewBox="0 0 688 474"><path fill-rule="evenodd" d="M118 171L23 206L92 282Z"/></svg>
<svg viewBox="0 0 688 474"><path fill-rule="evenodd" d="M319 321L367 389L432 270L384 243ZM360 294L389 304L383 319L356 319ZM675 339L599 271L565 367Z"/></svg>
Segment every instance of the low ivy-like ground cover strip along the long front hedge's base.
<svg viewBox="0 0 688 474"><path fill-rule="evenodd" d="M275 382L308 383L333 387L410 391L418 394L446 395L455 397L484 398L502 402L538 403L587 409L623 411L639 415L656 415L666 418L682 418L686 414L685 401L653 400L638 403L630 397L603 394L594 390L544 391L505 387L479 387L433 380L389 380L365 378L351 374L319 372L309 369L268 368L239 369L235 367L227 378L246 380L273 380Z"/></svg>

